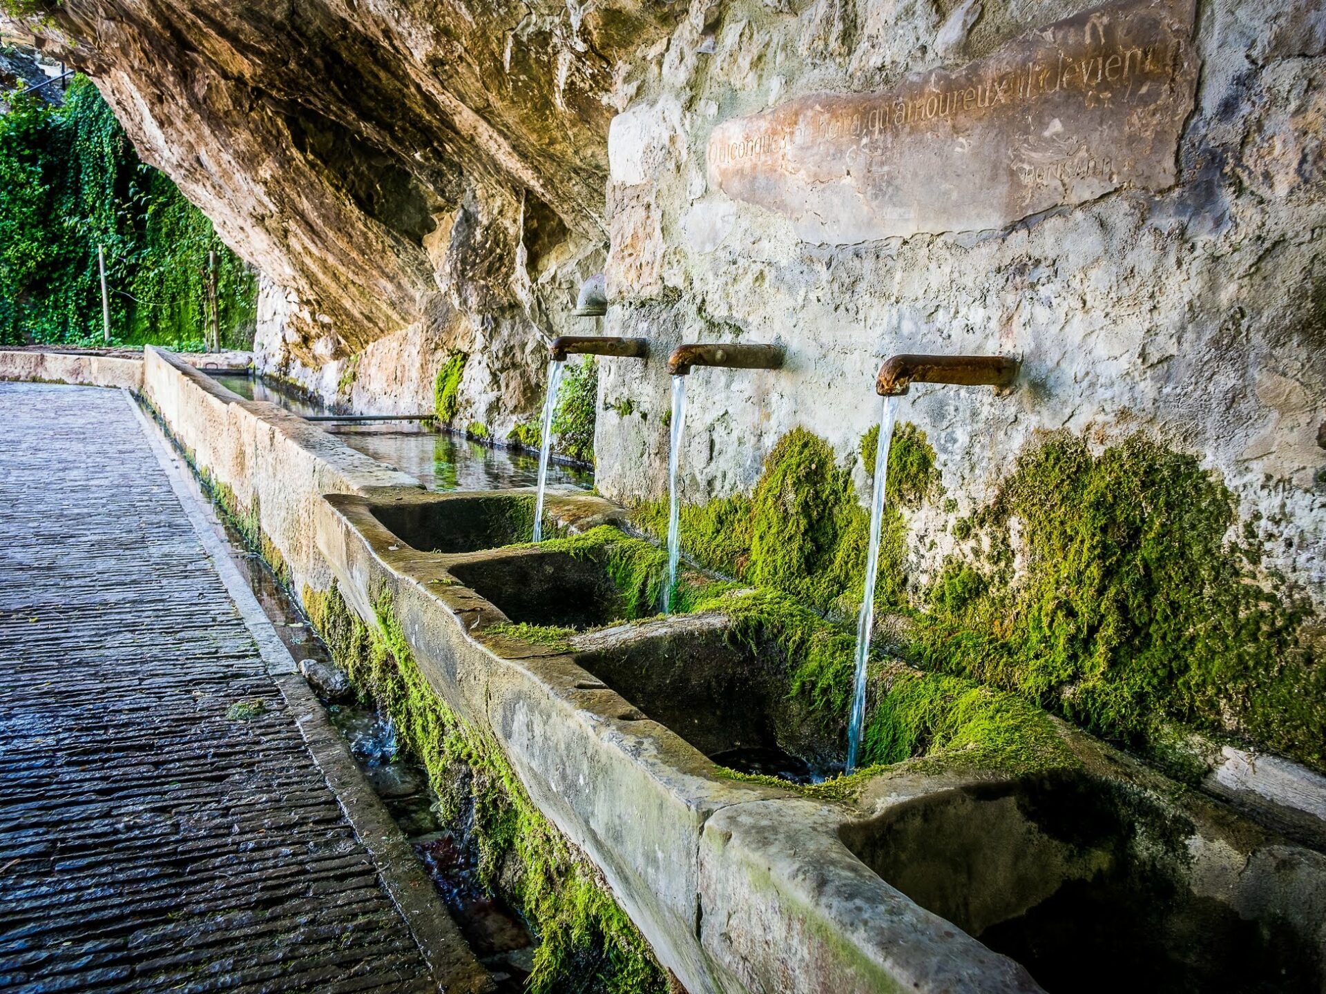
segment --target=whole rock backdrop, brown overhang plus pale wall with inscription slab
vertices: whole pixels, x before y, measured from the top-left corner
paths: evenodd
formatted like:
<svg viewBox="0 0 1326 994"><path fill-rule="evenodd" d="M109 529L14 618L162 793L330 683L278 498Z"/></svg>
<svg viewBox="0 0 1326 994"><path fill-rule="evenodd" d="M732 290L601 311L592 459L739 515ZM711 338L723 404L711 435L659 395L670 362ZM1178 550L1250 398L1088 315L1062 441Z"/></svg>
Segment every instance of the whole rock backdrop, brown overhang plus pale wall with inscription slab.
<svg viewBox="0 0 1326 994"><path fill-rule="evenodd" d="M418 408L465 351L457 421L501 437L606 268L605 330L658 343L603 363L607 496L663 490L676 343L788 349L692 375L690 501L748 490L797 425L853 459L888 354L1000 351L1010 396L903 404L944 485L918 583L1045 432L1144 431L1326 598L1321 0L460 9L70 0L36 27L284 288L268 362L325 396Z"/></svg>

